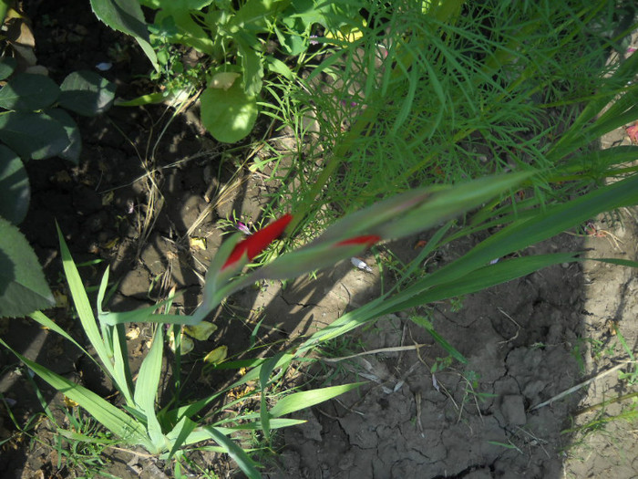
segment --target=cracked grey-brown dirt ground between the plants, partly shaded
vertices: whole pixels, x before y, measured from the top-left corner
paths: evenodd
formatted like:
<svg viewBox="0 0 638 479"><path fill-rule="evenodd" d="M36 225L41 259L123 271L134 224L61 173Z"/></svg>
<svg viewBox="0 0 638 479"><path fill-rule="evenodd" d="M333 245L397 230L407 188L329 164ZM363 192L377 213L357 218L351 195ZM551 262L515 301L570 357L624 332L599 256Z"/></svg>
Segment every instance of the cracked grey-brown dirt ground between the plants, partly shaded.
<svg viewBox="0 0 638 479"><path fill-rule="evenodd" d="M104 51L121 39L102 28L87 5L75 5L73 16L44 3L34 5L34 17L47 15L53 20L36 41L38 54L46 55L43 63L57 80L73 69L94 69L96 56L87 53L87 44L78 42L77 36L88 39L88 32L99 32L98 39L91 40L94 51ZM86 33L78 32L78 25ZM51 38L56 33L55 44L47 32ZM61 39L64 48L59 47ZM131 65L138 60L123 60L106 76L128 82L125 76L135 73ZM234 211L245 221L258 222L273 186L259 173L233 177L234 165L220 161L220 151L201 136L194 118L173 121L157 151L150 154L145 145L149 138L158 138L167 120L163 110L112 109L82 125L79 167L57 160L28 165L34 192L23 231L60 291L64 289L58 283L54 219L77 262L105 260L83 268L89 284L96 284L103 267L111 265L111 276L121 280L114 309L149 304L171 284L187 290L180 307L190 310L197 304L200 276L221 244L219 220ZM602 146L618 141L627 141L623 130L603 139ZM151 182L161 194L149 193ZM224 184L232 187L223 190ZM207 201L223 192L223 201ZM149 209L153 221L145 224ZM621 214L622 221L603 216L592 219L598 235L561 234L537 245L534 253L586 250L592 258L638 259L637 213L627 209ZM205 238L206 242L193 243L190 238ZM408 259L414 255L416 239L396 242L393 251ZM437 252L437 261L454 259L478 241L461 240ZM315 280L301 278L285 287L264 284L259 290L232 297L215 317L219 330L200 348L225 344L231 355L242 351L261 318L265 318L264 342L295 338L329 324L378 295L381 278L375 256L370 253L365 260L374 273L342 262ZM367 383L300 415L307 422L282 432L281 455L269 463L264 476L636 477L635 419L609 420L635 412L635 398L587 410L638 389L635 381L632 385L621 378L635 368L623 363L629 357L621 338L636 350L636 287L636 273L630 268L596 262L566 264L464 297L461 302L380 318L374 328L356 331L349 348L342 344L339 349L343 356L369 354L325 362L316 378L320 381L335 375L344 383ZM468 364L445 363L445 352L407 318L408 313L431 318L437 332L469 359ZM70 331L79 332L64 308L54 314ZM5 321L2 334L27 356L108 393L108 384L91 382L87 361L31 322ZM132 348L134 361L145 352L142 339ZM408 348L415 345L424 346ZM38 411L33 390L15 369L15 359L2 351L0 366L0 392L15 401L18 418ZM612 372L606 373L609 370ZM561 397L579 384L581 388ZM59 403L53 391L44 391L47 401ZM4 438L12 433L12 425L6 411L0 412ZM57 469L52 451L44 444L5 444L0 476L73 477ZM139 459L144 467L138 474L135 458L130 462L126 454L115 454L111 459L111 474L119 477L171 476L170 467L165 468L169 464ZM221 477L239 476L218 455L201 455L200 459L202 467L216 468Z"/></svg>

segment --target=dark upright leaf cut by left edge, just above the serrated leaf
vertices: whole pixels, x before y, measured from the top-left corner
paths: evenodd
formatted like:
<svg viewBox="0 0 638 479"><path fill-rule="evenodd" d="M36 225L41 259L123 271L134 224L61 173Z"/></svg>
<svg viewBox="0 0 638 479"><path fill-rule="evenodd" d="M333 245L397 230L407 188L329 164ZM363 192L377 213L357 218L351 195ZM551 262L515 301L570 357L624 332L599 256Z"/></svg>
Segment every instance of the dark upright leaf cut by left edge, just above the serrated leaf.
<svg viewBox="0 0 638 479"><path fill-rule="evenodd" d="M20 224L29 209L31 187L25 164L4 145L0 145L0 216Z"/></svg>

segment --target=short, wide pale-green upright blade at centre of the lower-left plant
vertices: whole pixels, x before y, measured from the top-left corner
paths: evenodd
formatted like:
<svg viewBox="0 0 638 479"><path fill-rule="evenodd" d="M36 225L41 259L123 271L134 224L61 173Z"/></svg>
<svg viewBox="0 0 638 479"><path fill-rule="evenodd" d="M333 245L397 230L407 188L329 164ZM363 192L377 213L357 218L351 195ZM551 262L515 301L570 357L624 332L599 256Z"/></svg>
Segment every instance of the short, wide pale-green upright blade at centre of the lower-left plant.
<svg viewBox="0 0 638 479"><path fill-rule="evenodd" d="M146 415L147 430L153 443L154 451L160 453L166 447L166 438L161 432L160 422L155 414L155 397L160 387L161 359L164 348L162 326L155 329L153 344L139 368L138 380L135 384L135 403Z"/></svg>

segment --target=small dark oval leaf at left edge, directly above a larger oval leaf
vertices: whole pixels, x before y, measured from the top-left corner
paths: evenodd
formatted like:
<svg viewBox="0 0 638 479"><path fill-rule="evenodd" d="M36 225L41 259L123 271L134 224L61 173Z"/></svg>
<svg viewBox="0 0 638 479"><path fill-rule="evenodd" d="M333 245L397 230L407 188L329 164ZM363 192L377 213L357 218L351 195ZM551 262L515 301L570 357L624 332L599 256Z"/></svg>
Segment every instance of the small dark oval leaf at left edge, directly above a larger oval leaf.
<svg viewBox="0 0 638 479"><path fill-rule="evenodd" d="M33 111L52 105L59 96L60 89L51 78L20 73L0 89L0 107Z"/></svg>

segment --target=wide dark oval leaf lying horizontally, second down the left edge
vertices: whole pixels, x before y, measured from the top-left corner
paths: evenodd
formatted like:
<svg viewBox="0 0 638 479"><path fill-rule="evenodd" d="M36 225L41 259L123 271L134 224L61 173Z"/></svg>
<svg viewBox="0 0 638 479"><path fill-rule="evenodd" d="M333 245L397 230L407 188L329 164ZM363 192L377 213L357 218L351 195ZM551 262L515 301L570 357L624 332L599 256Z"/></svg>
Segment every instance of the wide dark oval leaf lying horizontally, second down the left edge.
<svg viewBox="0 0 638 479"><path fill-rule="evenodd" d="M68 146L67 131L44 113L9 111L0 115L0 140L22 158L44 160Z"/></svg>

